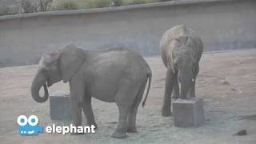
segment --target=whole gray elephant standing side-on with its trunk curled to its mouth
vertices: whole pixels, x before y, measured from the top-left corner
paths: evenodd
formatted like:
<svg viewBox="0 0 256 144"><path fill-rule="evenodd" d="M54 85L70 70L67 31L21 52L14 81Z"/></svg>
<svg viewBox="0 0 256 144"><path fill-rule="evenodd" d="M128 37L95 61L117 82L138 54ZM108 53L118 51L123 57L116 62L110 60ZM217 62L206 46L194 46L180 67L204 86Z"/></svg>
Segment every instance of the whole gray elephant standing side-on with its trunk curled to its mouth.
<svg viewBox="0 0 256 144"><path fill-rule="evenodd" d="M89 125L97 126L91 106L91 98L105 102L116 102L119 122L112 135L126 138L126 132L137 132L135 122L139 103L142 100L147 80L149 85L145 105L150 90L152 74L146 61L130 50L115 48L102 51L65 49L43 54L38 63L38 72L31 86L31 94L36 102L46 102L46 87L63 80L70 82L70 103L75 126L82 125L82 109ZM44 87L45 95L38 92Z"/></svg>

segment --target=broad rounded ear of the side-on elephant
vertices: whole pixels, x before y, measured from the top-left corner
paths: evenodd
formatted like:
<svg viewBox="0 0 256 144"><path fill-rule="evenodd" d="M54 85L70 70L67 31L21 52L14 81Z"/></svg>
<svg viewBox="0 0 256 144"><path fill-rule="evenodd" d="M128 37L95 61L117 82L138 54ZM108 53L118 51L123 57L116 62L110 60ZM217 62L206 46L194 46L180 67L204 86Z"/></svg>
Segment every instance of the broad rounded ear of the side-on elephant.
<svg viewBox="0 0 256 144"><path fill-rule="evenodd" d="M79 70L84 62L84 51L74 45L66 46L59 58L59 67L62 72L64 83L70 81L72 76Z"/></svg>

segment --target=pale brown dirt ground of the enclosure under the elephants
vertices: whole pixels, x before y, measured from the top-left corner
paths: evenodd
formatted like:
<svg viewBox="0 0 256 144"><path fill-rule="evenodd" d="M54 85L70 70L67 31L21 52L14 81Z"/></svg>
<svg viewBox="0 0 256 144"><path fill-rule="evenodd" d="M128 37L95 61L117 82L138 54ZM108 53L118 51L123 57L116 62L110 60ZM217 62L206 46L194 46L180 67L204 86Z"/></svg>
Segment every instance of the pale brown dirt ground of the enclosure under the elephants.
<svg viewBox="0 0 256 144"><path fill-rule="evenodd" d="M206 122L198 128L178 128L172 117L160 114L166 69L160 57L146 58L153 70L153 82L146 107L138 110L138 133L126 139L111 138L118 120L114 103L93 100L98 129L78 136L46 134L20 136L16 119L35 114L39 126L67 122L50 120L49 100L31 98L30 84L37 66L0 69L0 143L256 143L256 50L203 54L196 92L204 98ZM69 90L62 82L50 87ZM86 120L83 118L86 125ZM238 130L245 136L233 136Z"/></svg>

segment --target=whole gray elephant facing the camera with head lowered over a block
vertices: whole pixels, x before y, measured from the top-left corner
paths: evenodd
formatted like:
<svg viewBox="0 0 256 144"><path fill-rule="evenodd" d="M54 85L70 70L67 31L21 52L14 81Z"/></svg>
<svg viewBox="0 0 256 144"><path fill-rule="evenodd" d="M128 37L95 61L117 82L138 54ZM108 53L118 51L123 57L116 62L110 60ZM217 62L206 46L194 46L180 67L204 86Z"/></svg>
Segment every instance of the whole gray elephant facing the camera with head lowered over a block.
<svg viewBox="0 0 256 144"><path fill-rule="evenodd" d="M167 68L162 116L169 116L171 94L175 99L195 97L194 86L198 62L202 56L202 40L189 27L174 26L163 34L160 50L162 62Z"/></svg>

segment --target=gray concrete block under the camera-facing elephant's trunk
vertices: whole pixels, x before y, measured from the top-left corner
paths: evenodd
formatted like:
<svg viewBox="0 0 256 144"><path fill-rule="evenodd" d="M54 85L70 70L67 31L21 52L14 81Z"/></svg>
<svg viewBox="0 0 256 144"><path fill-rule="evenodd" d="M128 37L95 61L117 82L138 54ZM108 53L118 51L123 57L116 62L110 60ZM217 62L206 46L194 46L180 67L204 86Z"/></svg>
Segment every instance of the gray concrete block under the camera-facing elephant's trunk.
<svg viewBox="0 0 256 144"><path fill-rule="evenodd" d="M178 99L173 102L173 114L175 126L200 126L205 121L203 99Z"/></svg>

